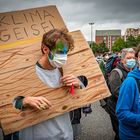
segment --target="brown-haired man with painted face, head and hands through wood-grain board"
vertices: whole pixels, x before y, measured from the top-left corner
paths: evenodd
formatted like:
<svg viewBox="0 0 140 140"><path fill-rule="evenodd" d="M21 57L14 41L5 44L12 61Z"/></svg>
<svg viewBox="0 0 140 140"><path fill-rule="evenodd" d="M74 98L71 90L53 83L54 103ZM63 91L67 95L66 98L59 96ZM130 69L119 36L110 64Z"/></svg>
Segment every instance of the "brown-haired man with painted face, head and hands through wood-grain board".
<svg viewBox="0 0 140 140"><path fill-rule="evenodd" d="M67 53L74 48L72 37L65 30L53 29L43 35L42 57L36 63L36 73L48 87L67 86L81 88L83 83L74 75L63 75L62 66ZM18 96L14 100L17 109L32 106L39 110L51 108L52 103L45 97ZM73 140L69 113L64 113L42 123L20 131L20 140Z"/></svg>

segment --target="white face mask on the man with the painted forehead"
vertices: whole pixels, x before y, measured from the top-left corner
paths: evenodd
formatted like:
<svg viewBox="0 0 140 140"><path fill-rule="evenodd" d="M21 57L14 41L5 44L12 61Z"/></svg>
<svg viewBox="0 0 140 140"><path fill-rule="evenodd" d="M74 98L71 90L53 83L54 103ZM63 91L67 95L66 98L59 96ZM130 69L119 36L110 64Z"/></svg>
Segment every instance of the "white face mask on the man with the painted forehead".
<svg viewBox="0 0 140 140"><path fill-rule="evenodd" d="M61 68L66 64L66 61L67 54L54 54L53 59L49 58L49 62L54 68Z"/></svg>

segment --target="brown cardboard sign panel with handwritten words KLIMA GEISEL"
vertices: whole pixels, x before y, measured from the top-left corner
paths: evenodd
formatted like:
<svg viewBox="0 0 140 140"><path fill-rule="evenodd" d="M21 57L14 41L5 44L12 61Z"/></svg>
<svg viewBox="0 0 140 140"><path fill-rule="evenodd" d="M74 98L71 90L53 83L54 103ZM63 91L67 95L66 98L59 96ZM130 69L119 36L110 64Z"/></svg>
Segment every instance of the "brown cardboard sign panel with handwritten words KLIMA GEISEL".
<svg viewBox="0 0 140 140"><path fill-rule="evenodd" d="M42 36L54 27L65 28L58 17L61 18L54 6L1 13L0 44Z"/></svg>

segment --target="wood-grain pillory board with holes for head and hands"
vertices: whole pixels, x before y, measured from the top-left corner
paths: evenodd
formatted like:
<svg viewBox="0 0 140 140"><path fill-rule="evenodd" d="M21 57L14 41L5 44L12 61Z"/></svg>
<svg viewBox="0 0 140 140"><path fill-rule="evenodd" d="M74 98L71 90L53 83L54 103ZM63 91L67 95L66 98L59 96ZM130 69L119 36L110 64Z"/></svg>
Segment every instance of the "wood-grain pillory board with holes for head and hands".
<svg viewBox="0 0 140 140"><path fill-rule="evenodd" d="M40 56L40 47L34 51L34 44L4 52L5 56L10 56L18 49L18 52L23 54L15 53L9 63L3 65L0 74L0 119L6 134L110 95L99 66L81 32L73 32L72 35L75 40L75 50L68 56L68 63L63 68L64 74L85 75L89 83L85 89L76 90L73 96L69 94L69 89L66 87L50 89L38 79L35 73L35 62ZM26 59L28 61L25 63ZM18 95L44 96L53 103L53 106L45 111L28 109L21 112L12 107L12 100Z"/></svg>

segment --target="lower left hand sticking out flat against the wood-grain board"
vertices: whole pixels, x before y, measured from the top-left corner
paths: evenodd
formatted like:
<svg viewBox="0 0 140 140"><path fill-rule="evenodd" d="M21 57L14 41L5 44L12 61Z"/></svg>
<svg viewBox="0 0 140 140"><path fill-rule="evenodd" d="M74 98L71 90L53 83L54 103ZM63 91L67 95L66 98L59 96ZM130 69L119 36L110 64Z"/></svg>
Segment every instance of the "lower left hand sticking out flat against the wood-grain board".
<svg viewBox="0 0 140 140"><path fill-rule="evenodd" d="M49 109L52 104L45 97L25 97L23 99L23 106L31 106L39 110Z"/></svg>

